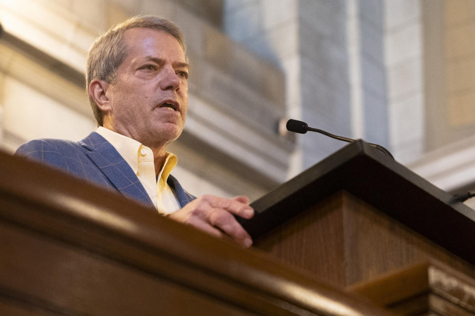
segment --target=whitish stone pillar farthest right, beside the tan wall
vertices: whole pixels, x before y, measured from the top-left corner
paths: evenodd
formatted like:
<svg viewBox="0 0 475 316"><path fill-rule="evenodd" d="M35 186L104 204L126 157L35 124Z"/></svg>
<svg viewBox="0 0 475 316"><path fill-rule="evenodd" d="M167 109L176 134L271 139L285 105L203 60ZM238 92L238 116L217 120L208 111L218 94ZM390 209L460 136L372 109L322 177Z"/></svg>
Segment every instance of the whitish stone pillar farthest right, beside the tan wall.
<svg viewBox="0 0 475 316"><path fill-rule="evenodd" d="M408 163L424 152L424 56L420 0L384 0L390 148Z"/></svg>

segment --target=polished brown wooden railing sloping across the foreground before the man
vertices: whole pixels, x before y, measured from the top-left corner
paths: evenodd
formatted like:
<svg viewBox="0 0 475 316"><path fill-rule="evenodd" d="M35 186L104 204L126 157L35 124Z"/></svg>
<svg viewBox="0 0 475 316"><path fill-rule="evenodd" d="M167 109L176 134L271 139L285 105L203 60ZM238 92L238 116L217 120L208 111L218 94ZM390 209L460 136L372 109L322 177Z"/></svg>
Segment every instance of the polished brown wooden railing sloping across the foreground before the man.
<svg viewBox="0 0 475 316"><path fill-rule="evenodd" d="M59 170L0 162L0 315L391 315Z"/></svg>

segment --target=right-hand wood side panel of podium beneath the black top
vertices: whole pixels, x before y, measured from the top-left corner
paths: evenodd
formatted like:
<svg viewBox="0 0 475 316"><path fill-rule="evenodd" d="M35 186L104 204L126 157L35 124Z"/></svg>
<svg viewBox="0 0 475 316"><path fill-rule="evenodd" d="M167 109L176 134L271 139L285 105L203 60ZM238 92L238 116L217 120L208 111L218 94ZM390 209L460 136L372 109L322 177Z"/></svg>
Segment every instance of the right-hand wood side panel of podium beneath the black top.
<svg viewBox="0 0 475 316"><path fill-rule="evenodd" d="M394 221L369 204L343 194L347 283L370 280L420 262L440 262L474 277L475 268L446 249Z"/></svg>

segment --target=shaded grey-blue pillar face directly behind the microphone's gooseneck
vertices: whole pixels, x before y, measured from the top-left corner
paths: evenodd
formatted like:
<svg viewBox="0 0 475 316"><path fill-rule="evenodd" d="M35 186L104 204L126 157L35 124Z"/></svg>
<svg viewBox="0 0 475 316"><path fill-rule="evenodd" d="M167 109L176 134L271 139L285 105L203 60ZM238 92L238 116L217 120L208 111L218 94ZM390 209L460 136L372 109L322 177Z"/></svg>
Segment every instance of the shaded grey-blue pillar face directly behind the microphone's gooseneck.
<svg viewBox="0 0 475 316"><path fill-rule="evenodd" d="M316 128L351 137L346 0L299 0L301 117ZM302 139L310 167L343 142L319 134Z"/></svg>

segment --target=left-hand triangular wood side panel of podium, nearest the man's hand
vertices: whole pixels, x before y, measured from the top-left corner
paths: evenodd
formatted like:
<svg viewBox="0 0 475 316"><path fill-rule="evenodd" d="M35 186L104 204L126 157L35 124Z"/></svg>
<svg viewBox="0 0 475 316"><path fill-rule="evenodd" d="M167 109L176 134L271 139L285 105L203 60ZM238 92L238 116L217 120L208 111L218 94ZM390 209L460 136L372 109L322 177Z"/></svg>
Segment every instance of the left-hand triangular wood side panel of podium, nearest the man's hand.
<svg viewBox="0 0 475 316"><path fill-rule="evenodd" d="M342 232L342 199L334 196L298 214L254 246L288 267L342 286L346 284Z"/></svg>

